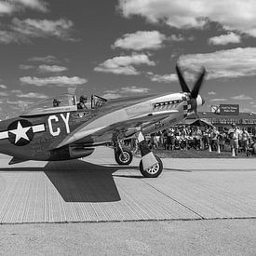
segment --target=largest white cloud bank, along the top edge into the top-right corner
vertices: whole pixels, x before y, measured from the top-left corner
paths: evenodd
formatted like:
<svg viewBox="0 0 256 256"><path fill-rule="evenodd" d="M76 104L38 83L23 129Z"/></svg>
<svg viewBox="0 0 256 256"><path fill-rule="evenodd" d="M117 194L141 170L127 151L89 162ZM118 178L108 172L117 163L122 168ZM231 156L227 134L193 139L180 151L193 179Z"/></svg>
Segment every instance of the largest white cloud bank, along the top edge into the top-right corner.
<svg viewBox="0 0 256 256"><path fill-rule="evenodd" d="M209 21L225 30L256 36L254 0L119 0L124 17L141 16L149 22L164 22L179 29L203 28Z"/></svg>

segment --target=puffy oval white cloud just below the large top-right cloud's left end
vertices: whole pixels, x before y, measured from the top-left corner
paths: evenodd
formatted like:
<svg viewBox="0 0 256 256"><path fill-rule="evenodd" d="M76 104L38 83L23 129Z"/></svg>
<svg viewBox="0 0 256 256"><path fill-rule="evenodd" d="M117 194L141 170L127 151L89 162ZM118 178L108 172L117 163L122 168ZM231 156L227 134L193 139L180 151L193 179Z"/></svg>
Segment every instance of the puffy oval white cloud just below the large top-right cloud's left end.
<svg viewBox="0 0 256 256"><path fill-rule="evenodd" d="M133 50L159 49L163 47L163 42L166 39L165 34L158 31L137 31L133 34L124 34L122 38L115 41L112 47Z"/></svg>

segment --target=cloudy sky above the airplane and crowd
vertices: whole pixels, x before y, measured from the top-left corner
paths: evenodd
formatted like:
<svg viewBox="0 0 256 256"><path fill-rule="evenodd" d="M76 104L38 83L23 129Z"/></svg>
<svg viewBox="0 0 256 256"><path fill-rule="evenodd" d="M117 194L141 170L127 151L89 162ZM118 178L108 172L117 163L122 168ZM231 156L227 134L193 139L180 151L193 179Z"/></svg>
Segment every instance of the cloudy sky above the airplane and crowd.
<svg viewBox="0 0 256 256"><path fill-rule="evenodd" d="M256 112L255 0L0 0L0 118L76 88L107 99L190 88Z"/></svg>

